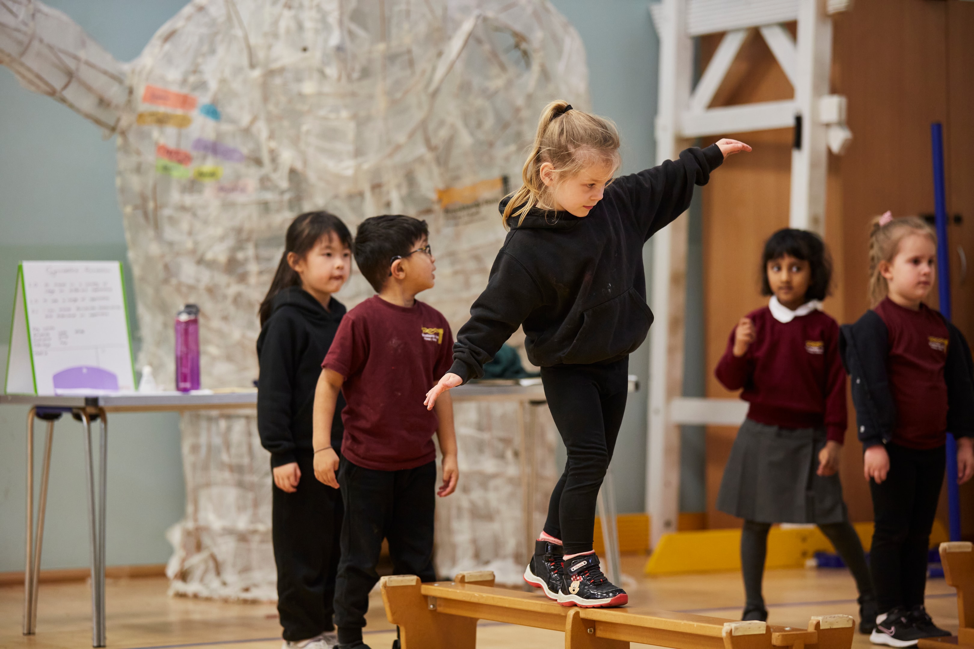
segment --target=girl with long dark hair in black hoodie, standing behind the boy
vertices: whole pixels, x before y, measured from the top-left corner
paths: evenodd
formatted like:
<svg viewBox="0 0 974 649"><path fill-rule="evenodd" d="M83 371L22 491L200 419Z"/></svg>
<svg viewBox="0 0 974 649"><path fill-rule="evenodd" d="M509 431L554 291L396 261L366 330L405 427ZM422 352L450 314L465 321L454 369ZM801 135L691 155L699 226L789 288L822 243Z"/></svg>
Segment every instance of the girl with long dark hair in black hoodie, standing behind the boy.
<svg viewBox="0 0 974 649"><path fill-rule="evenodd" d="M274 471L273 539L282 649L329 649L343 507L338 489L315 479L312 406L321 361L345 306L332 296L352 270L352 234L327 212L301 214L287 229L281 263L260 305L257 429ZM341 396L331 446L342 444Z"/></svg>

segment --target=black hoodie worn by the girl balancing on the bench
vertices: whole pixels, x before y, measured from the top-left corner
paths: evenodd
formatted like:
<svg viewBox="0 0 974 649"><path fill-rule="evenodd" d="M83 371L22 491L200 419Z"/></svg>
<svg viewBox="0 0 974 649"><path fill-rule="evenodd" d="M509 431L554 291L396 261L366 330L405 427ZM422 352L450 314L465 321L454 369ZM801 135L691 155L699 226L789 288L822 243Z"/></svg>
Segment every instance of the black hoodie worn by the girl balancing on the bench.
<svg viewBox="0 0 974 649"><path fill-rule="evenodd" d="M717 145L692 148L679 161L621 176L587 216L532 209L494 260L487 288L457 334L450 372L468 379L519 325L535 365L606 363L646 339L653 312L646 305L643 244L680 216L724 162ZM506 200L501 201L504 211Z"/></svg>

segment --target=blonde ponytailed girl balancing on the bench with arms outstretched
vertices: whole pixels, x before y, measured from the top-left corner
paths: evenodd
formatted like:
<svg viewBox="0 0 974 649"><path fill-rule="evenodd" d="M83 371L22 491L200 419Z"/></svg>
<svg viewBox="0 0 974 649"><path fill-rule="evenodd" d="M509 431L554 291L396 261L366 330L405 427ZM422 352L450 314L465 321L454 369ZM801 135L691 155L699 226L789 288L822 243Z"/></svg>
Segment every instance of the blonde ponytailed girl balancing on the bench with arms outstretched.
<svg viewBox="0 0 974 649"><path fill-rule="evenodd" d="M501 201L510 229L487 288L470 307L437 396L483 376L518 326L542 368L544 395L568 451L524 579L565 606L620 606L592 549L595 500L625 411L628 356L653 322L643 244L690 205L694 185L746 144L724 139L678 161L613 179L618 133L605 118L553 101L543 110L523 185Z"/></svg>

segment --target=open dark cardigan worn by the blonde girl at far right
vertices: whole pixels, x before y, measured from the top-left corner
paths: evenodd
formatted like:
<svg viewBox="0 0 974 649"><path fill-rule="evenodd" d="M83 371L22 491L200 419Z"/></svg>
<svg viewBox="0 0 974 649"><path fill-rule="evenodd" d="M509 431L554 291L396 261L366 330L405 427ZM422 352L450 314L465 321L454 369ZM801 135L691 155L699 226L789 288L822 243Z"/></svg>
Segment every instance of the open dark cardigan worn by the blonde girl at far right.
<svg viewBox="0 0 974 649"><path fill-rule="evenodd" d="M955 437L974 437L974 361L960 330L947 318L944 322L951 336L944 367L947 430ZM842 326L839 351L852 381L856 432L863 449L886 444L896 428L896 402L886 376L888 337L886 323L872 309L855 324Z"/></svg>

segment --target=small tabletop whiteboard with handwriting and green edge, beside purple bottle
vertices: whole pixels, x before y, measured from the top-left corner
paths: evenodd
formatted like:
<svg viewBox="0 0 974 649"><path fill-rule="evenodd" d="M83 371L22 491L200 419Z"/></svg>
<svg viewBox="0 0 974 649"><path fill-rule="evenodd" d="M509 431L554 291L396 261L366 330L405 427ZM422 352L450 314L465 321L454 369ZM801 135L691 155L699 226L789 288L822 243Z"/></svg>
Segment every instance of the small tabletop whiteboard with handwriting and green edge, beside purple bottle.
<svg viewBox="0 0 974 649"><path fill-rule="evenodd" d="M5 391L134 389L121 262L21 262Z"/></svg>

